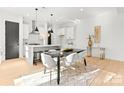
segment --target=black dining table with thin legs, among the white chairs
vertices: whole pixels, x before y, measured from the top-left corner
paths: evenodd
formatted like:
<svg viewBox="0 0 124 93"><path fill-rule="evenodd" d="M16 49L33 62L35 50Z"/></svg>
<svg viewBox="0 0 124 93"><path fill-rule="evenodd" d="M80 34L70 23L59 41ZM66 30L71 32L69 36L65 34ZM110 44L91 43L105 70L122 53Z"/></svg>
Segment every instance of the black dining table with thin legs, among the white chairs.
<svg viewBox="0 0 124 93"><path fill-rule="evenodd" d="M80 53L80 52L84 52L84 49L73 49L72 51L49 51L49 52L45 52L45 54L50 55L51 57L57 57L57 84L60 84L60 58L61 57L65 57L68 56L71 53ZM86 63L86 59L84 58L84 64L85 66L87 65Z"/></svg>

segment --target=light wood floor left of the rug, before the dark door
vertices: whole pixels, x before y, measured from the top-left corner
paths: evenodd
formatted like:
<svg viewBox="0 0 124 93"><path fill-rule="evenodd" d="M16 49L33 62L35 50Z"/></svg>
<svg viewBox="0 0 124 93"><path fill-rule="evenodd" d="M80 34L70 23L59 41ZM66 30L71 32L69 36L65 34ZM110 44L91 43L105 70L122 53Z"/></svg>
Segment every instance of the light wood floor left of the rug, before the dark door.
<svg viewBox="0 0 124 93"><path fill-rule="evenodd" d="M0 64L0 86L13 85L13 80L30 73L43 70L41 63L37 65L29 65L25 59L12 59Z"/></svg>

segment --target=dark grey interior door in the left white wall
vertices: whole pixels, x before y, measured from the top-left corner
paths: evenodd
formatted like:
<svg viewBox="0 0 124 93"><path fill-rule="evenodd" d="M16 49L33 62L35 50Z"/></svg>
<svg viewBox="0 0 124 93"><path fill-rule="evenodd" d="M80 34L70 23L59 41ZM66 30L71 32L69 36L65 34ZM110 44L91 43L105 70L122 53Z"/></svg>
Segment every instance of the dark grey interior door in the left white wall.
<svg viewBox="0 0 124 93"><path fill-rule="evenodd" d="M19 58L19 23L5 21L5 31L5 58Z"/></svg>

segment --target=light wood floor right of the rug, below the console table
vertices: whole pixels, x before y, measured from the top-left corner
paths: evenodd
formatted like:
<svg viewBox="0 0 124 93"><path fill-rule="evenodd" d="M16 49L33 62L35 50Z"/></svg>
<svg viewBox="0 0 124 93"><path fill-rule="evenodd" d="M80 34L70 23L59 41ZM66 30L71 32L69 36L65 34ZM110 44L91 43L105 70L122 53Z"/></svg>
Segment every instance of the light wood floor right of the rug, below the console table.
<svg viewBox="0 0 124 93"><path fill-rule="evenodd" d="M97 65L101 69L100 74L91 85L95 86L124 86L124 62L115 60L100 60L87 57L89 64Z"/></svg>

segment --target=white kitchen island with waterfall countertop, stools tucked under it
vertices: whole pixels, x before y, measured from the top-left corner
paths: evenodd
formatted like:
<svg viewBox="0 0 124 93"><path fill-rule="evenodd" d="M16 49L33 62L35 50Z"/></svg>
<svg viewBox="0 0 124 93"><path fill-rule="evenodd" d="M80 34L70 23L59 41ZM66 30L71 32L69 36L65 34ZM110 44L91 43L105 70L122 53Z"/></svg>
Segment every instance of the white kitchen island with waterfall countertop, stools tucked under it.
<svg viewBox="0 0 124 93"><path fill-rule="evenodd" d="M51 49L60 49L60 45L25 45L25 57L33 65L34 52L44 52Z"/></svg>

